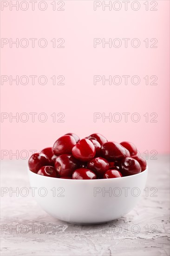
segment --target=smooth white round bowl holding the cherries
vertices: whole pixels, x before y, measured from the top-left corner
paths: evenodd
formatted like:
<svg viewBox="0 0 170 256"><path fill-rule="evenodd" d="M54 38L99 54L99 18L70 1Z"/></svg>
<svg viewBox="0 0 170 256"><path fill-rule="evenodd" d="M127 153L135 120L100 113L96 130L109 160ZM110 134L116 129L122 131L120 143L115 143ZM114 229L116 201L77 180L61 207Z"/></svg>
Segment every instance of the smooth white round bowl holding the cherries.
<svg viewBox="0 0 170 256"><path fill-rule="evenodd" d="M69 180L38 175L28 169L41 208L55 218L77 224L109 222L131 211L143 193L147 173L148 167L121 178Z"/></svg>

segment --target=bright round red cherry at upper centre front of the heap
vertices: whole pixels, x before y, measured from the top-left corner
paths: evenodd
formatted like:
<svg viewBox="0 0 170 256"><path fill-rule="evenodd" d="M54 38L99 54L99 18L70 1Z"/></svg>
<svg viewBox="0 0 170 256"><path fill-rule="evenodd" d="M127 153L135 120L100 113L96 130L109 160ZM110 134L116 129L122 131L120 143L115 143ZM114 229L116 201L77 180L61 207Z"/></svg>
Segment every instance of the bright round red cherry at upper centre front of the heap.
<svg viewBox="0 0 170 256"><path fill-rule="evenodd" d="M82 139L72 148L72 155L80 161L88 162L96 154L96 149L92 141Z"/></svg>

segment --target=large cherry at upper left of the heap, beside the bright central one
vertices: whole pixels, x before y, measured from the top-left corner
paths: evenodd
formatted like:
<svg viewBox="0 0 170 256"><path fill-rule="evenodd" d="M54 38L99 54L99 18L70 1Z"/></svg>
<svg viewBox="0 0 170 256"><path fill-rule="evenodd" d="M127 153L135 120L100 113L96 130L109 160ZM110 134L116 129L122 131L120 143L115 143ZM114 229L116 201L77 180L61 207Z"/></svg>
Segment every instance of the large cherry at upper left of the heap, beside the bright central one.
<svg viewBox="0 0 170 256"><path fill-rule="evenodd" d="M71 135L64 135L55 141L52 148L54 155L71 154L76 141Z"/></svg>

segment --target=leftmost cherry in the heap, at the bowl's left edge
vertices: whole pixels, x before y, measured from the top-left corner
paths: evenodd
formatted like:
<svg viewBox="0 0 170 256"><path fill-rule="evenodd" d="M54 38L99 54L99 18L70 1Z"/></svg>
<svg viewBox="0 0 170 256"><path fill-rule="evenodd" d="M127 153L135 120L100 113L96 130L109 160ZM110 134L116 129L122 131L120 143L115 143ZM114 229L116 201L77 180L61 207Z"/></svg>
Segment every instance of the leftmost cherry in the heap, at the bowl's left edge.
<svg viewBox="0 0 170 256"><path fill-rule="evenodd" d="M48 157L42 153L33 154L28 160L28 167L30 171L37 173L38 170L45 165L49 165L50 160Z"/></svg>

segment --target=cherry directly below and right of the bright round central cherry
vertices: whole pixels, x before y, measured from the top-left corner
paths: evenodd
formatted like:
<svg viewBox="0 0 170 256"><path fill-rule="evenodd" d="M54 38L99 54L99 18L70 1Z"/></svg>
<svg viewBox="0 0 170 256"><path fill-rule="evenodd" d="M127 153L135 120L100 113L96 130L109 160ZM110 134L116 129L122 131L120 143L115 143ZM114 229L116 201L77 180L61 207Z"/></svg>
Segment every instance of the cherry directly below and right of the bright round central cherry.
<svg viewBox="0 0 170 256"><path fill-rule="evenodd" d="M104 173L109 170L109 162L102 158L96 157L87 163L87 168L92 170L99 178L103 178Z"/></svg>

